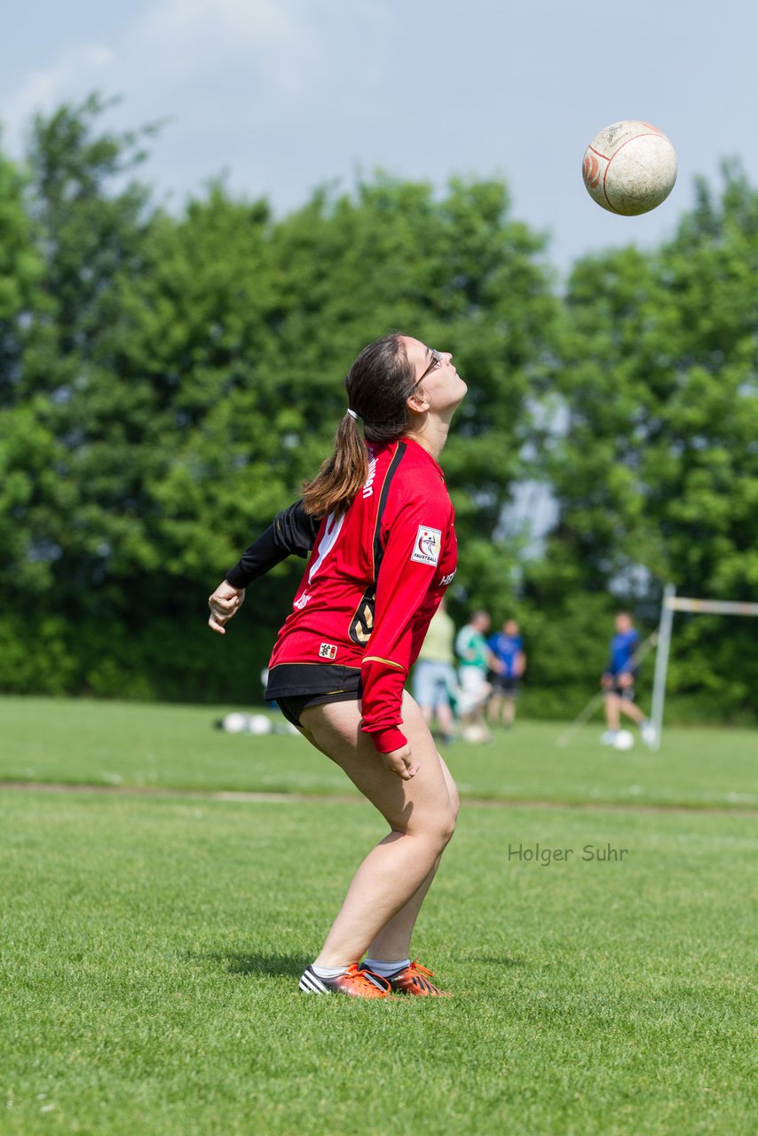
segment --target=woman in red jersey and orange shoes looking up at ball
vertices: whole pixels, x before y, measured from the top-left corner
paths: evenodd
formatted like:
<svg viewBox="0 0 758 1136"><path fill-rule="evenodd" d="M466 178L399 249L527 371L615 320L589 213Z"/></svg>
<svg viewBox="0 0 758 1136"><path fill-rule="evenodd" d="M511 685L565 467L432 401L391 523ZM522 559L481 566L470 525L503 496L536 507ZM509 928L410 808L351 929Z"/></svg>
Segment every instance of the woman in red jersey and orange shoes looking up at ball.
<svg viewBox="0 0 758 1136"><path fill-rule="evenodd" d="M224 634L252 579L293 552L309 556L267 698L344 769L390 833L359 867L300 989L439 995L410 960L410 936L458 793L403 685L456 571L438 460L466 384L449 352L388 335L361 351L345 390L334 453L216 588L208 623Z"/></svg>

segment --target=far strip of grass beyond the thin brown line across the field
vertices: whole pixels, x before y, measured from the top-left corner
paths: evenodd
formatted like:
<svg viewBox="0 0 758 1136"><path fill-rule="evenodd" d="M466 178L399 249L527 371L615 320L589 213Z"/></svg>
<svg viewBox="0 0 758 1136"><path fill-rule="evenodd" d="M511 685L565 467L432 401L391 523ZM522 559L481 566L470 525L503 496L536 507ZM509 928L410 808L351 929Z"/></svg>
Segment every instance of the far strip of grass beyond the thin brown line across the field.
<svg viewBox="0 0 758 1136"><path fill-rule="evenodd" d="M223 734L228 708L0 699L0 779L199 791L349 792L300 737ZM598 744L599 722L567 749L557 724L519 722L495 745L445 751L464 794L514 801L758 807L755 730L667 730L660 753Z"/></svg>

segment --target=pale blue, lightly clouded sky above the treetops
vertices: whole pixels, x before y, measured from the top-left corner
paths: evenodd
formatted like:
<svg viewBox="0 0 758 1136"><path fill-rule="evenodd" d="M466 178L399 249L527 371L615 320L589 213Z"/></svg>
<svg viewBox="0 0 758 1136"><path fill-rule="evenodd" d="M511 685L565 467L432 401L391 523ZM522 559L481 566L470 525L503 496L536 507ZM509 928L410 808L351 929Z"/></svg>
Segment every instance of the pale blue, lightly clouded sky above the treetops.
<svg viewBox="0 0 758 1136"><path fill-rule="evenodd" d="M181 203L211 175L278 212L381 167L438 186L502 176L550 257L650 245L739 156L758 184L758 6L742 0L30 0L0 42L3 147L32 114L99 89L117 125L168 119L144 168ZM642 118L678 182L644 217L605 212L581 178L603 126Z"/></svg>

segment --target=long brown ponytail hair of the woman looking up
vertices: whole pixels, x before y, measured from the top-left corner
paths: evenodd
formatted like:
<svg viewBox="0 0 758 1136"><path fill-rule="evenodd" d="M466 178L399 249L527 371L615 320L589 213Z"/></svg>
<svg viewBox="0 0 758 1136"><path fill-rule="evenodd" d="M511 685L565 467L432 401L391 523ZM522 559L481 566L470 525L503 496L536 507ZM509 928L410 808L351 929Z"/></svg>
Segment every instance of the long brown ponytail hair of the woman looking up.
<svg viewBox="0 0 758 1136"><path fill-rule="evenodd" d="M416 375L399 333L384 335L360 352L344 379L348 406L363 419L367 442L393 442L408 429ZM334 452L302 486L306 512L325 517L345 512L368 476L366 446L358 423L347 411L334 435Z"/></svg>

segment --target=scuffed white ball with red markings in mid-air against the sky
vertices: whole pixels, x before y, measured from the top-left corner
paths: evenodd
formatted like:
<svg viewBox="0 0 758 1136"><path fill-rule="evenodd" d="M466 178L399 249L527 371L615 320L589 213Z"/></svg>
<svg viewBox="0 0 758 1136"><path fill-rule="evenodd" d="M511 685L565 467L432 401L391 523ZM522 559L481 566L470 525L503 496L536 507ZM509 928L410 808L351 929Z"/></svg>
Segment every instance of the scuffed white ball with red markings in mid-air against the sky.
<svg viewBox="0 0 758 1136"><path fill-rule="evenodd" d="M666 135L636 119L613 123L590 142L582 167L593 201L636 217L665 201L676 181L676 151Z"/></svg>

